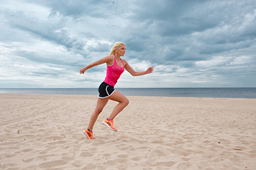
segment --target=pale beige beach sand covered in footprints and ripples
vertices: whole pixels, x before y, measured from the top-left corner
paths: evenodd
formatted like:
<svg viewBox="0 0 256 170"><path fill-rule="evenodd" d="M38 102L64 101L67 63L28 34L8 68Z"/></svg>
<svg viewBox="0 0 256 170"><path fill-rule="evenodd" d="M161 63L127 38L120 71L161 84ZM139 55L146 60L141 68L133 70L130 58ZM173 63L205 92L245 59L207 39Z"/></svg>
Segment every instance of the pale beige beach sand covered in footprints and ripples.
<svg viewBox="0 0 256 170"><path fill-rule="evenodd" d="M256 99L0 94L0 169L256 169Z"/></svg>

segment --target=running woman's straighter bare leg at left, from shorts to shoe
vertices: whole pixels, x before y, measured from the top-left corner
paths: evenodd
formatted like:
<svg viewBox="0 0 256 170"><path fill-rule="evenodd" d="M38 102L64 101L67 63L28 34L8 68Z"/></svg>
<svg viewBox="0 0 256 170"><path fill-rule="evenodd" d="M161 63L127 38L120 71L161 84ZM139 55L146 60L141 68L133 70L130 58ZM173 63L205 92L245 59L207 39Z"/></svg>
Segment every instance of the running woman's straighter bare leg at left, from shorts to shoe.
<svg viewBox="0 0 256 170"><path fill-rule="evenodd" d="M92 131L93 125L95 124L95 122L96 122L99 114L103 110L103 108L108 103L108 100L109 100L108 97L104 98L104 99L101 99L101 98L98 99L97 106L96 106L95 110L92 113L92 116L90 118L90 122L89 122L89 125L88 125L88 129L90 129L90 131Z"/></svg>

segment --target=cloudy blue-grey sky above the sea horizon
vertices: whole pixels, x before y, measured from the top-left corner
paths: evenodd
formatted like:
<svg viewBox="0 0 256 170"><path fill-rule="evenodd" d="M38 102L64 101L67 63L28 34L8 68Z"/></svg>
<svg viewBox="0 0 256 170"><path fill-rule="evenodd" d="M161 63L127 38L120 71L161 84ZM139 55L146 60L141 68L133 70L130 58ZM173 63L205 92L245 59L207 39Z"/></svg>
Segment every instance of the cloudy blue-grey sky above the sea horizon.
<svg viewBox="0 0 256 170"><path fill-rule="evenodd" d="M256 87L255 0L4 0L0 31L0 88L97 88L115 41L155 67L116 87Z"/></svg>

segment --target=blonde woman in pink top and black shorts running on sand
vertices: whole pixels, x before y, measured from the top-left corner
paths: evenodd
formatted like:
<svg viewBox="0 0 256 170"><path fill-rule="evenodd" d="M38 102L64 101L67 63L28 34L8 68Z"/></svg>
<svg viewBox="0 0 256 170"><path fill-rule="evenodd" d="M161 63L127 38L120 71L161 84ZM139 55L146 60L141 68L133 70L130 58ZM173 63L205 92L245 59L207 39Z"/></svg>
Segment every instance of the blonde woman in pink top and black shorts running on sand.
<svg viewBox="0 0 256 170"><path fill-rule="evenodd" d="M107 74L105 80L99 86L99 99L97 101L97 106L92 113L88 129L84 130L84 134L88 139L93 139L93 125L95 124L99 114L103 110L104 106L108 103L109 99L117 101L118 104L115 106L109 117L104 120L103 124L106 125L112 131L117 131L114 126L113 119L122 111L128 104L129 100L118 90L115 90L115 84L118 78L126 69L132 76L141 76L144 74L152 73L154 67L148 67L146 71L134 71L131 66L129 66L126 60L122 60L120 57L125 54L126 45L122 42L116 42L113 45L110 55L92 62L88 66L80 69L80 74L84 74L84 71L90 69L91 67L98 66L100 64L107 64Z"/></svg>

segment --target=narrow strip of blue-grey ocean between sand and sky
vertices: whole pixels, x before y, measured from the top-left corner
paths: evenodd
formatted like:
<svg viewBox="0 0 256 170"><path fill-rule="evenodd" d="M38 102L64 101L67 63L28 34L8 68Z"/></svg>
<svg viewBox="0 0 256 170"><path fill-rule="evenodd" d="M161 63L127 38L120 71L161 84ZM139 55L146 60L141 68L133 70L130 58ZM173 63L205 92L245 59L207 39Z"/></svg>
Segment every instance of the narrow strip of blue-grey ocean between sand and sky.
<svg viewBox="0 0 256 170"><path fill-rule="evenodd" d="M116 88L125 96L256 99L256 88ZM0 94L98 95L97 88L0 89Z"/></svg>

